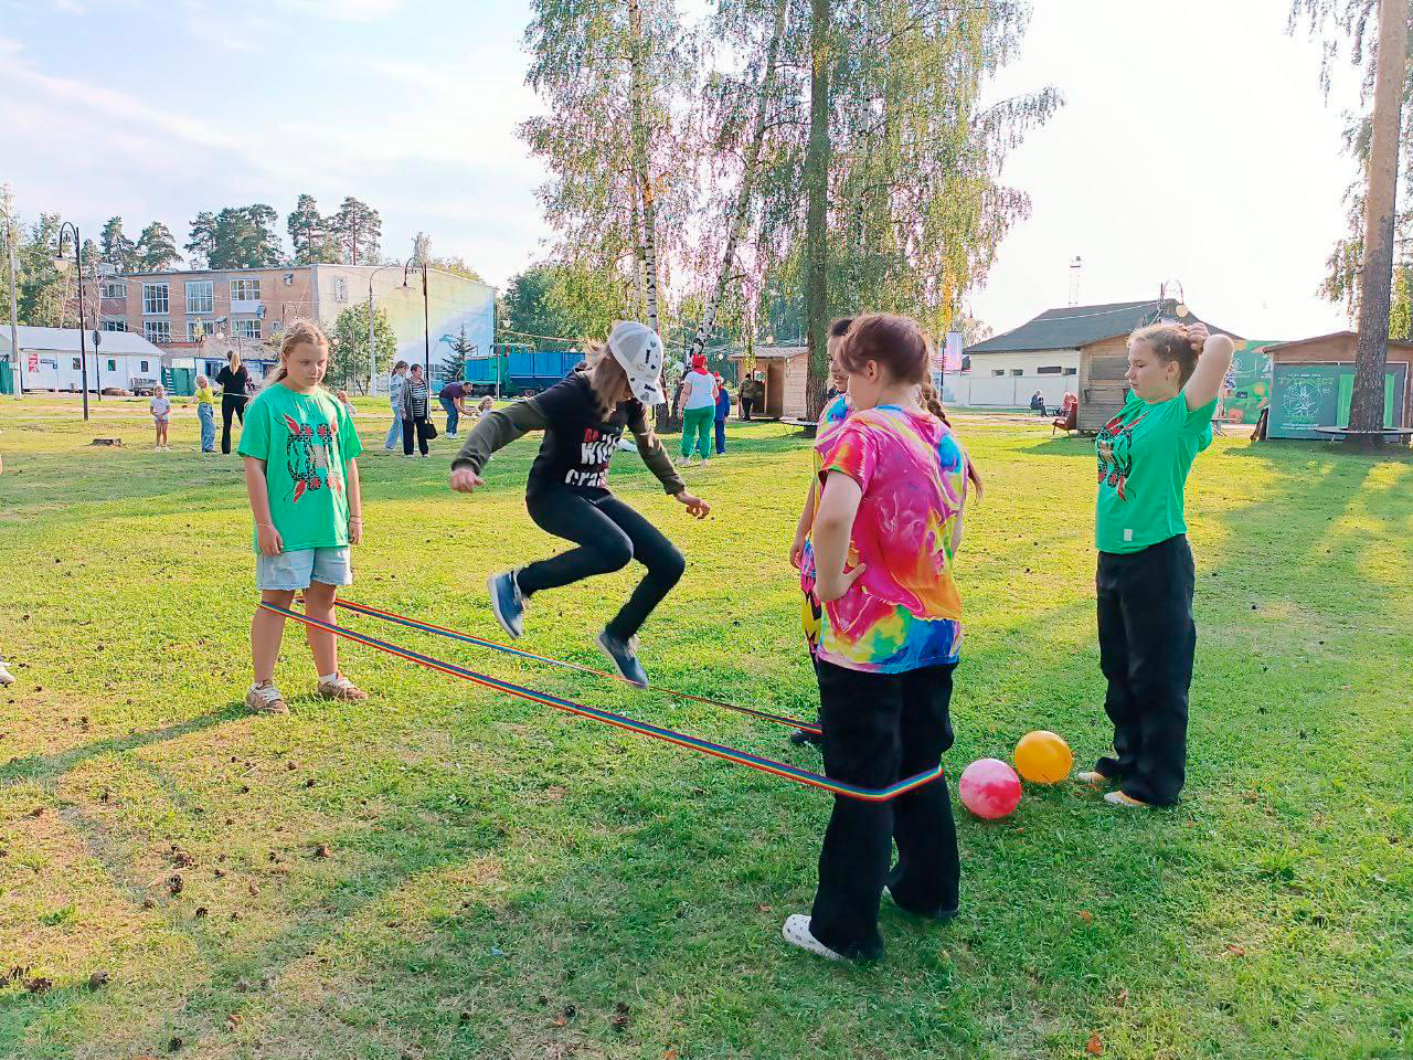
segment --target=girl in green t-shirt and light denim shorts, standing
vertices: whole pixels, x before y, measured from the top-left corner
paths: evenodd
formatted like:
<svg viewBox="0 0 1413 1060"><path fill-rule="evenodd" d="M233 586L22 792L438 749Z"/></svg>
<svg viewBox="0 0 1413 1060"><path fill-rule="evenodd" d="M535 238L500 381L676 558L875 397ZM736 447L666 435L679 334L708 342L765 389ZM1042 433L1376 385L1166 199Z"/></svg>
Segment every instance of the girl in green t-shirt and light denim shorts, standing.
<svg viewBox="0 0 1413 1060"><path fill-rule="evenodd" d="M260 599L281 608L304 592L304 613L333 622L339 585L353 584L349 546L363 538L363 497L357 455L363 451L348 408L319 383L329 366L329 343L318 325L297 321L280 345L280 370L250 401L240 455L246 495L256 520L256 587ZM284 637L284 615L256 609L250 623L254 684L246 705L261 714L288 714L274 685ZM339 673L333 635L305 628L325 700L366 700L367 693Z"/></svg>

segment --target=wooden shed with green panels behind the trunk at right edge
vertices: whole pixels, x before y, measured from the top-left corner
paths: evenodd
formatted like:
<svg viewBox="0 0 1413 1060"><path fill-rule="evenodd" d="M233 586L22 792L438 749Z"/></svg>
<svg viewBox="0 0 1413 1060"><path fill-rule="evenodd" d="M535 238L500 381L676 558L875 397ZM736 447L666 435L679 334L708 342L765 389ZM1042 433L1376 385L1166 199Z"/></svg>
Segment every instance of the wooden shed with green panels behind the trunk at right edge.
<svg viewBox="0 0 1413 1060"><path fill-rule="evenodd" d="M1317 427L1349 423L1359 335L1337 331L1266 348L1270 356L1267 438L1321 438ZM1383 373L1383 425L1413 425L1413 342L1390 341Z"/></svg>

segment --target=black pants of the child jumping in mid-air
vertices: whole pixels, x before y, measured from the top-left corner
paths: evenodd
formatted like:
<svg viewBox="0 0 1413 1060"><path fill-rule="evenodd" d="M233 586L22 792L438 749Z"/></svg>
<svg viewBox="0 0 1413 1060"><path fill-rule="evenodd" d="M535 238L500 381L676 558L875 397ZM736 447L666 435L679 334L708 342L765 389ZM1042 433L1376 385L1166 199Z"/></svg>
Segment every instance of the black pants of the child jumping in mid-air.
<svg viewBox="0 0 1413 1060"><path fill-rule="evenodd" d="M608 625L609 636L627 640L637 633L653 608L663 602L687 570L677 547L643 516L606 489L579 493L572 489L536 490L526 496L530 517L545 533L574 541L551 560L520 568L516 584L526 595L620 571L632 560L647 567L643 581Z"/></svg>

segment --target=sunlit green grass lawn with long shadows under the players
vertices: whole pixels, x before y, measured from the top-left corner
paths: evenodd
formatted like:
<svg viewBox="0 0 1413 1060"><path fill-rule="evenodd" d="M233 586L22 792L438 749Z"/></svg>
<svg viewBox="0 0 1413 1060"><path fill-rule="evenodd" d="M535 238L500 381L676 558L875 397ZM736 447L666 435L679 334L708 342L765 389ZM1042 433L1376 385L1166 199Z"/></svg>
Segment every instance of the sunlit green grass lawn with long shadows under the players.
<svg viewBox="0 0 1413 1060"><path fill-rule="evenodd" d="M179 408L0 399L0 1057L1407 1057L1413 1054L1413 461L1218 440L1188 492L1198 650L1188 786L1153 814L1071 786L959 811L962 914L885 905L887 957L786 946L827 796L341 644L366 704L249 717L250 516ZM365 442L386 413L365 404ZM986 476L959 582L955 776L1108 728L1094 458L964 420ZM120 449L90 448L116 434ZM675 444L675 438L668 440ZM550 554L524 440L475 497L435 459L362 464L360 602L500 639L487 572ZM619 492L688 557L649 623L667 687L814 708L786 548L808 452L774 424ZM596 664L630 572L534 601L526 644ZM362 618L348 625L817 767L784 731ZM954 789L955 790L955 789ZM324 848L321 851L321 847ZM321 856L324 855L324 856ZM179 876L179 893L174 893ZM10 970L17 970L10 972ZM10 972L10 974L7 974ZM90 987L90 977L106 974Z"/></svg>

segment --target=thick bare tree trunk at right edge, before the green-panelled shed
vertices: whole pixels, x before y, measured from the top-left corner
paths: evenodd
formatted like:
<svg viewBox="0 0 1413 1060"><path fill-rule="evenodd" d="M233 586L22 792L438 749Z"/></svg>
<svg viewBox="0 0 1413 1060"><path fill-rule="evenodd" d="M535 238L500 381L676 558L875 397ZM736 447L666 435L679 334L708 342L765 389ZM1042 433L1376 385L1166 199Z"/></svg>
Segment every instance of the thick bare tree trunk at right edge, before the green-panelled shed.
<svg viewBox="0 0 1413 1060"><path fill-rule="evenodd" d="M1393 202L1397 188L1407 35L1407 0L1381 0L1369 189L1364 202L1359 346L1355 353L1354 399L1349 406L1349 427L1355 431L1376 431L1383 427L1383 367L1388 360L1389 288L1393 281Z"/></svg>

